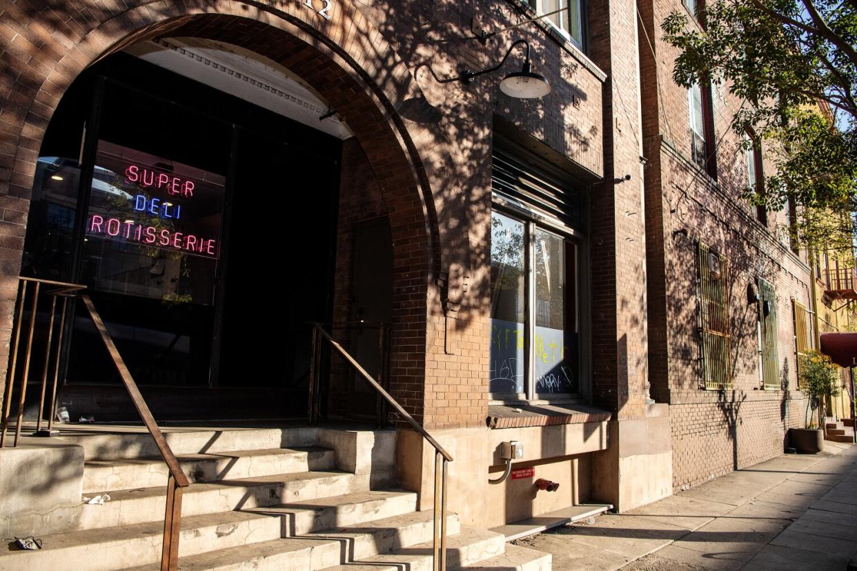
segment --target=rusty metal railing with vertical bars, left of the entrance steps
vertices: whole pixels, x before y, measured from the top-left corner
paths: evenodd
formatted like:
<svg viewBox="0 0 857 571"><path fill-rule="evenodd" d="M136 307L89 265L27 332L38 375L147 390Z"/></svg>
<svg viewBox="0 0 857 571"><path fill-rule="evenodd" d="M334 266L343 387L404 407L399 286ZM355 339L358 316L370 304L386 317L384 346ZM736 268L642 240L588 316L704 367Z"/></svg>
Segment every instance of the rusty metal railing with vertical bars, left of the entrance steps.
<svg viewBox="0 0 857 571"><path fill-rule="evenodd" d="M24 416L24 400L27 396L27 380L29 378L30 364L33 357L33 336L38 318L39 294L45 294L51 298L51 312L48 319L49 324L45 341L45 364L42 372L41 396L39 399L39 409L36 415L36 434L43 435L45 433L41 431L41 425L42 414L45 408L48 369L51 360L53 360L53 384L51 388L51 406L49 407L49 413L51 416L48 419L47 424L47 434L50 435L53 430L54 417L56 416L57 380L59 378L60 354L63 350L63 330L65 328L66 310L69 298L77 296L83 301L84 306L86 306L89 317L93 320L95 329L98 330L101 341L104 342L105 348L110 354L113 364L119 372L119 376L122 378L125 389L128 390L131 401L134 402L134 406L137 409L137 412L140 413L143 424L146 425L149 434L152 435L161 458L164 459L167 468L170 471L170 475L167 479L164 541L161 548L161 571L175 571L178 564L178 538L182 520L182 489L189 486L190 482L188 477L182 472L182 468L178 463L176 455L173 454L170 445L166 442L164 433L160 431L158 424L155 422L152 412L149 410L146 401L143 399L140 390L137 388L137 384L131 376L128 366L125 365L125 361L123 360L122 355L119 354L116 344L113 342L110 333L105 327L104 321L101 319L99 312L95 309L93 300L91 300L88 295L81 294L81 291L85 289L86 286L76 283L52 282L50 280L41 280L33 277L19 277L18 306L17 311L15 312L15 333L13 335L11 346L12 358L9 363L9 372L7 374L6 387L3 395L3 419L2 425L0 425L0 448L3 448L5 444L6 432L9 426L12 392L15 385L15 372L18 364L18 354L20 353L21 329L23 327L25 317L24 307L27 300L27 293L28 290L31 289L31 285L33 289L33 301L29 324L27 324L27 348L23 355L24 370L21 374L21 388L18 396L18 413L15 423L15 441L12 444L13 447L18 445L18 440L21 436L21 425ZM60 318L59 330L57 333L57 344L56 347L54 347L53 333L57 317L57 298L62 298L63 301L59 310Z"/></svg>

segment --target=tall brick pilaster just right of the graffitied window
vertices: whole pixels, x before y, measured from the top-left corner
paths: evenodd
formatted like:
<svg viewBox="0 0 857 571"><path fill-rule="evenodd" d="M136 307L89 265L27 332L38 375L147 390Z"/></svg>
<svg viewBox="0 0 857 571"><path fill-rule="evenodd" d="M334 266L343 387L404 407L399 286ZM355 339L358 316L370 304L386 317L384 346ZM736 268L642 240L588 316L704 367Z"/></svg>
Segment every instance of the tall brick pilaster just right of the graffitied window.
<svg viewBox="0 0 857 571"><path fill-rule="evenodd" d="M590 54L608 74L605 181L591 192L592 394L619 419L642 418L649 341L636 4L590 3L589 23Z"/></svg>

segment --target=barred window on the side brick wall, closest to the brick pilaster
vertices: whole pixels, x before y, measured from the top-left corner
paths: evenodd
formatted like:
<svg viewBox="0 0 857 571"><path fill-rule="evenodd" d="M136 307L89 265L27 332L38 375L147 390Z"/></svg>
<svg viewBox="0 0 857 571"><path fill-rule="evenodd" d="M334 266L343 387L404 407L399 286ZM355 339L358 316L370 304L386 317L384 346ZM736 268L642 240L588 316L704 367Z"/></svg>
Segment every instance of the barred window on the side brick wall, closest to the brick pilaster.
<svg viewBox="0 0 857 571"><path fill-rule="evenodd" d="M699 326L702 381L706 390L732 388L728 262L699 242Z"/></svg>

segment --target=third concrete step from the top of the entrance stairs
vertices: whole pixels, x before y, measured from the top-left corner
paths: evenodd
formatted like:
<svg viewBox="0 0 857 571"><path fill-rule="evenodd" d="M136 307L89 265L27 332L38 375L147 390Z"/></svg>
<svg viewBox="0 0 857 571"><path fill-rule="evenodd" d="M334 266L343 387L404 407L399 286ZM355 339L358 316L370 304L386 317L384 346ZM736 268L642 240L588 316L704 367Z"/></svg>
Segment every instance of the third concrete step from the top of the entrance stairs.
<svg viewBox="0 0 857 571"><path fill-rule="evenodd" d="M354 474L338 470L273 474L191 484L183 491L182 516L342 496L365 489L363 484L363 480L357 479ZM165 498L166 485L112 491L110 501L103 505L82 506L81 529L163 521Z"/></svg>

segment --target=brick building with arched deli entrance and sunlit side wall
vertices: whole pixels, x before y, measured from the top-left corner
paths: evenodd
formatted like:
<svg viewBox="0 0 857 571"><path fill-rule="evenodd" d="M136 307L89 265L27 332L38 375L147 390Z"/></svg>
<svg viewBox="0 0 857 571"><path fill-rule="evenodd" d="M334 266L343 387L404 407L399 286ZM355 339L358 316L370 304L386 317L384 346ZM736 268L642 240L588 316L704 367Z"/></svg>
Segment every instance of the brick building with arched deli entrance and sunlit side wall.
<svg viewBox="0 0 857 571"><path fill-rule="evenodd" d="M672 81L680 0L526 23L553 5L0 3L4 350L24 276L87 286L159 421L303 418L322 367L321 416L398 422L395 479L430 509L434 449L313 359L322 323L455 458L473 526L781 454L811 274L788 214L740 199L764 170L740 102ZM498 89L518 39L543 98ZM57 406L136 419L81 304L68 322ZM521 477L491 485L511 441Z"/></svg>

